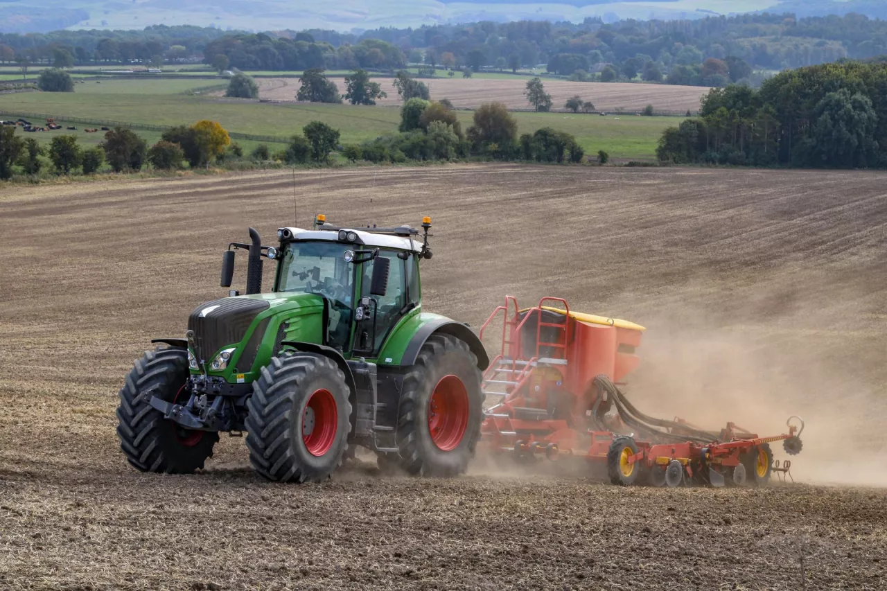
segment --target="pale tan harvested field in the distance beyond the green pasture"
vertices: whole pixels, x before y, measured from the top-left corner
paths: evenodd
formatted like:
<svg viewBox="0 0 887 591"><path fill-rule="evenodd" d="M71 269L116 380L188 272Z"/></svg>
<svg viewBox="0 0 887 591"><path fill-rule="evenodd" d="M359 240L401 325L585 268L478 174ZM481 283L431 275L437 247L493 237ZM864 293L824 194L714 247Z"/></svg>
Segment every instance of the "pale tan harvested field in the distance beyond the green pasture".
<svg viewBox="0 0 887 591"><path fill-rule="evenodd" d="M523 96L526 81L493 80L481 78L435 78L423 80L431 91L432 98L449 98L454 106L475 108L482 103L493 100L505 103L510 108L527 108L527 100ZM339 91L345 92L344 78L331 77ZM381 83L382 90L388 98L377 101L379 105L400 105L401 100L391 83L392 78L375 78ZM276 100L294 100L299 90L296 78L259 78L259 95L261 98ZM565 80L546 80L546 91L552 95L555 108L562 108L564 102L573 95L584 100L591 100L594 106L603 111L614 111L624 108L626 111L640 111L648 105L663 111L695 111L699 108L699 99L703 98L708 88L701 86L673 86L671 84L632 84L632 83L574 83Z"/></svg>

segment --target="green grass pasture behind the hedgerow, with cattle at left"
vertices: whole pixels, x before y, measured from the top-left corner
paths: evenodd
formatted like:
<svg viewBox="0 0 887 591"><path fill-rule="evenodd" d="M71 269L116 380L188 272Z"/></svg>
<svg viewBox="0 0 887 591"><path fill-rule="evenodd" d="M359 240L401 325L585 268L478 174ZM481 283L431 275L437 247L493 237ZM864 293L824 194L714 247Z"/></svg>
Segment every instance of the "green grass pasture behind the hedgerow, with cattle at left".
<svg viewBox="0 0 887 591"><path fill-rule="evenodd" d="M213 119L226 130L239 133L286 138L300 133L311 121L321 121L341 130L342 143L359 143L385 133L396 132L400 109L391 106L350 105L275 105L220 98L190 96L184 92L217 85L217 81L102 80L87 81L75 86L73 93L22 92L4 95L0 101L3 119L19 115L50 114L65 125L73 124L85 145L97 144L103 134L85 134L84 127L98 127L102 122L130 122L150 125L192 124L200 119ZM459 111L459 121L466 130L472 112ZM89 119L90 123L65 122L65 117ZM652 159L663 130L679 123L674 117L638 117L564 113L514 113L519 133L532 133L543 127L569 131L585 149L586 154L606 150L613 158ZM35 122L42 122L35 118ZM134 129L153 143L160 131ZM41 142L50 141L52 131L34 134ZM30 134L28 134L30 135ZM237 140L245 149L257 142ZM272 149L277 149L276 144Z"/></svg>

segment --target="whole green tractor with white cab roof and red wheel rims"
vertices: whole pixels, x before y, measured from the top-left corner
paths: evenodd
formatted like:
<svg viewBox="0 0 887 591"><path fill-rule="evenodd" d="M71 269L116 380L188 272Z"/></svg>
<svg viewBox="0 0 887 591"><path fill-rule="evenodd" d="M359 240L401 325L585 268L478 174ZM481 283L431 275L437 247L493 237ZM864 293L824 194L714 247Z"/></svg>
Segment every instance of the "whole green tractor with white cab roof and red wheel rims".
<svg viewBox="0 0 887 591"><path fill-rule="evenodd" d="M489 364L467 324L422 311L419 263L428 230L280 228L248 250L247 289L192 311L185 338L154 339L120 390L117 433L145 472L190 473L220 432L247 432L255 469L281 482L318 481L353 455L410 474L465 471L483 419ZM262 292L263 259L276 263Z"/></svg>

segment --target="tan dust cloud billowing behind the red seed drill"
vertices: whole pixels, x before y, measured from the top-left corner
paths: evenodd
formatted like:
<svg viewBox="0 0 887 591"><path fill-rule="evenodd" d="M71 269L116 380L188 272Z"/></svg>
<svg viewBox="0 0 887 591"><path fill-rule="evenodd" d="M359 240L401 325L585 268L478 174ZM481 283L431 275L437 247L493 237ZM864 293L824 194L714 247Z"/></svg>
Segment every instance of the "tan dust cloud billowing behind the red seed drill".
<svg viewBox="0 0 887 591"><path fill-rule="evenodd" d="M645 315L629 398L648 414L704 429L732 421L762 437L787 432L798 415L803 451L772 444L795 479L887 486L885 347L870 328L883 311L882 278L798 271L775 283L694 282L680 305Z"/></svg>

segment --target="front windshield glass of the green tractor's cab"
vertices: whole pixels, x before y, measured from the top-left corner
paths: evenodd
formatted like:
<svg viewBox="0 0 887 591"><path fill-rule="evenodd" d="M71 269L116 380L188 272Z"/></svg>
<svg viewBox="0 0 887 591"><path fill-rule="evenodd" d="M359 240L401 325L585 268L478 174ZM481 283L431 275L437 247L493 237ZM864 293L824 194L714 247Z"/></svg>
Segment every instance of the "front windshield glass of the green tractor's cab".
<svg viewBox="0 0 887 591"><path fill-rule="evenodd" d="M318 294L349 308L354 265L343 257L349 248L338 242L290 242L280 258L277 291Z"/></svg>

